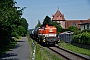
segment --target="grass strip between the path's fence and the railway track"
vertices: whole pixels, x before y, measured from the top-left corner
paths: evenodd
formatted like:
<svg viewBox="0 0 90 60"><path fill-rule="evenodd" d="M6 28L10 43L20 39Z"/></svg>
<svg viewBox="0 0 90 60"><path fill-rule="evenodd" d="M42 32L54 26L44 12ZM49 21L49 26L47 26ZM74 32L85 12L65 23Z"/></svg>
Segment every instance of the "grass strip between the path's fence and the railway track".
<svg viewBox="0 0 90 60"><path fill-rule="evenodd" d="M62 60L59 57L57 57L55 54L50 53L50 51L46 50L36 42L35 45L36 45L35 60Z"/></svg>

